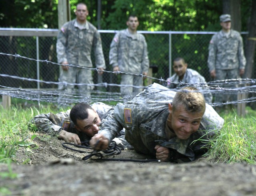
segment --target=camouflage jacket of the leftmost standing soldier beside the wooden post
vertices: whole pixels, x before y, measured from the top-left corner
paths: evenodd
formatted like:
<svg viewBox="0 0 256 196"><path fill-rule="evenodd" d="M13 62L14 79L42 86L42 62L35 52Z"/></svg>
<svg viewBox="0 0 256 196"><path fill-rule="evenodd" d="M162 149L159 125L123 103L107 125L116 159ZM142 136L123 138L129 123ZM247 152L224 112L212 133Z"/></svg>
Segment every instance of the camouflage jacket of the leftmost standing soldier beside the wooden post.
<svg viewBox="0 0 256 196"><path fill-rule="evenodd" d="M91 51L94 51L97 68L106 68L100 34L88 21L84 29L77 27L76 19L66 22L58 33L56 44L58 63L92 67Z"/></svg>

